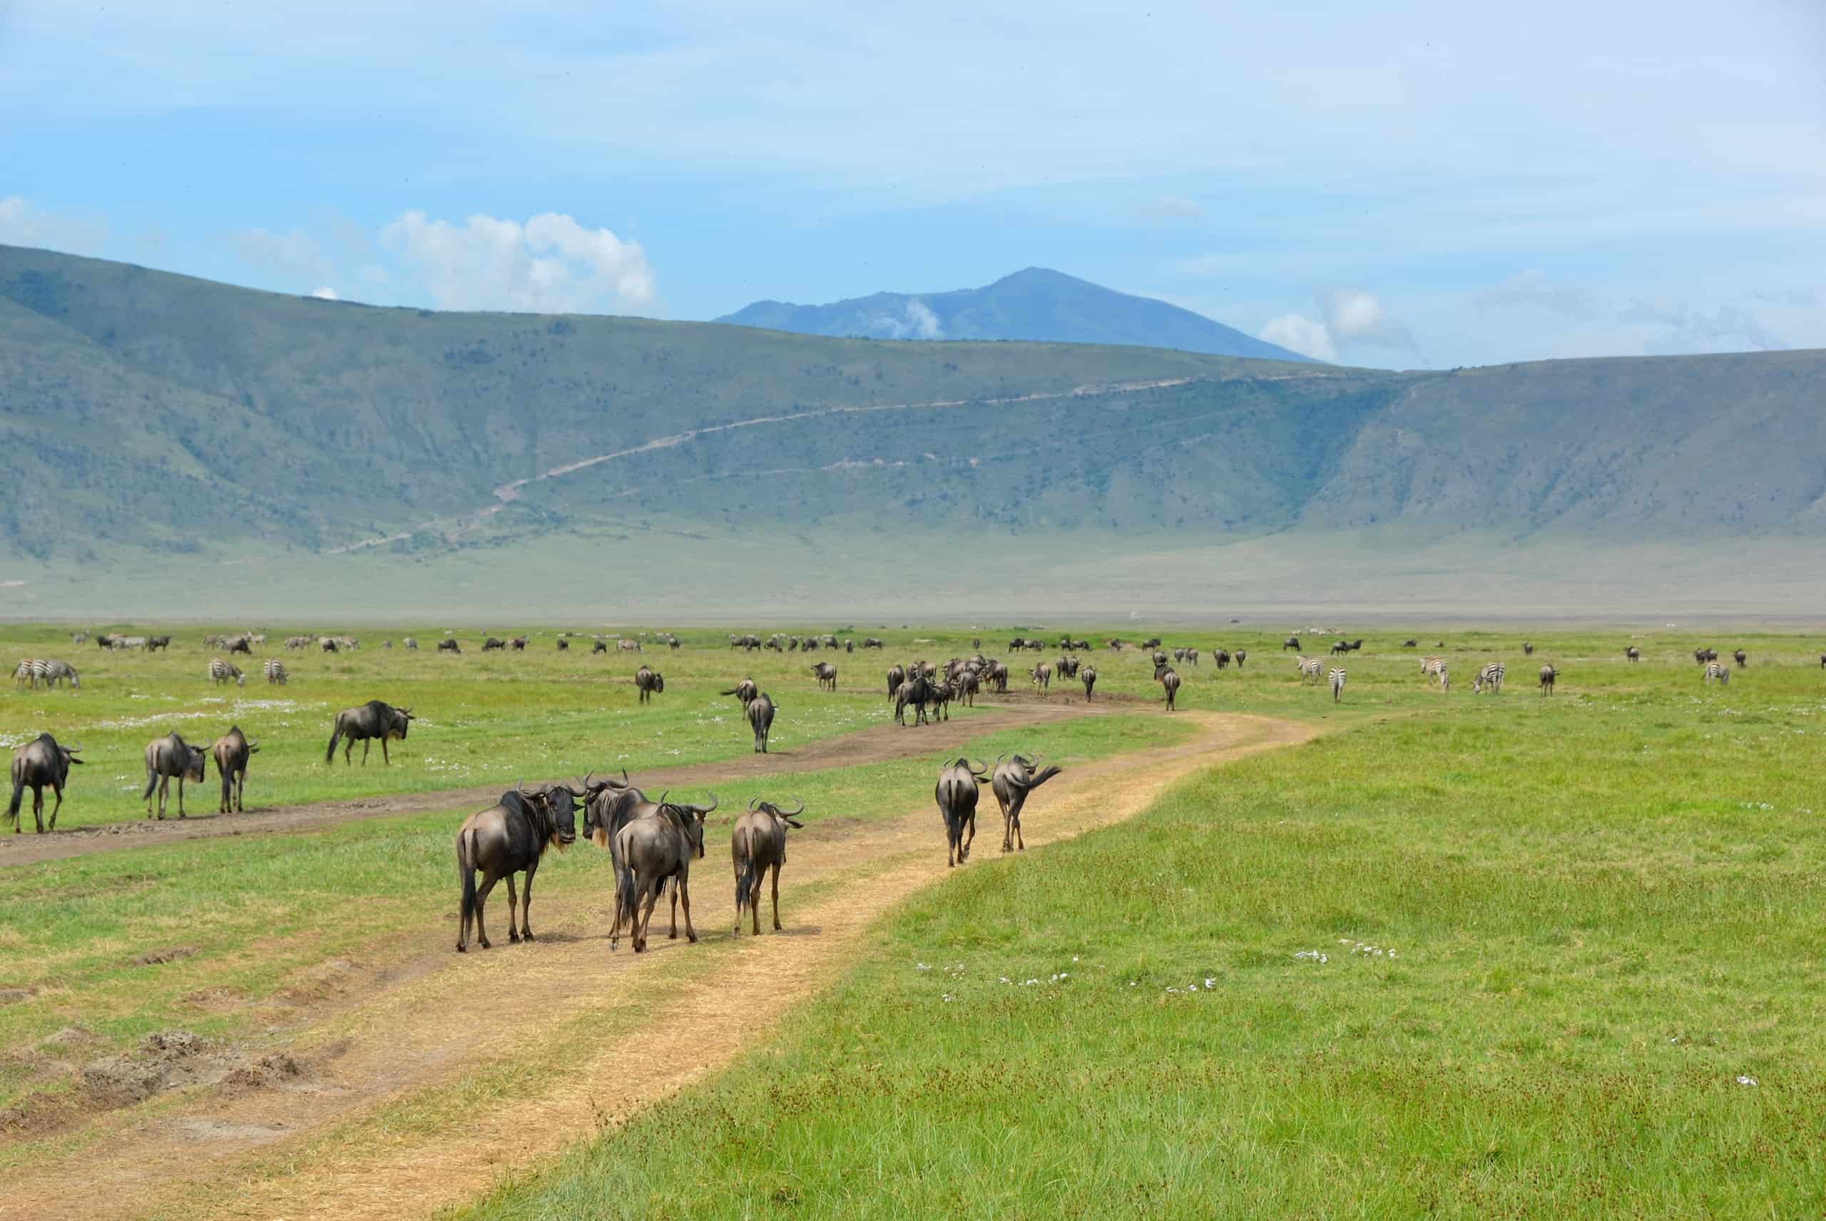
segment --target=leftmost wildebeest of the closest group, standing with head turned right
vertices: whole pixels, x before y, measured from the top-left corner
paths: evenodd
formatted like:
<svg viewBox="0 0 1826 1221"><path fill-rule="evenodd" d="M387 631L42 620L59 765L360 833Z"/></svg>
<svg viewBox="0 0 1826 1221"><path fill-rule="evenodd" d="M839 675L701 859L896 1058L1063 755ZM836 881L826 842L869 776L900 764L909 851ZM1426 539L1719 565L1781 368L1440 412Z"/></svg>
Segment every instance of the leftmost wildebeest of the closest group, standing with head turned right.
<svg viewBox="0 0 1826 1221"><path fill-rule="evenodd" d="M577 798L588 792L590 777L582 785L540 785L528 788L517 785L500 794L500 801L486 810L478 810L464 819L456 832L456 876L462 880L462 902L458 905L456 953L469 949L469 922L475 920L475 940L488 949L488 927L482 924L482 909L488 892L502 878L508 880L508 940L533 940L533 874L539 872L539 858L546 849L557 845L559 851L577 841ZM475 876L482 874L482 885ZM526 874L526 898L513 892L513 874ZM515 903L519 903L519 927L515 927Z"/></svg>

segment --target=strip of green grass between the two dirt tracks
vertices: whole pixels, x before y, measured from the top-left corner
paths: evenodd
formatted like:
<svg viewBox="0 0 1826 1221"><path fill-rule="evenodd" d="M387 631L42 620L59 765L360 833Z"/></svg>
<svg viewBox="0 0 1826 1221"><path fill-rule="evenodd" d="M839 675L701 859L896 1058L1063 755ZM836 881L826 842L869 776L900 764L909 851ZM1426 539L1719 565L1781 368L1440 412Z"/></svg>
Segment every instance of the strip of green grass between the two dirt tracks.
<svg viewBox="0 0 1826 1221"><path fill-rule="evenodd" d="M729 812L750 796L803 798L811 825L893 818L929 801L946 752L1043 750L1070 765L1183 739L1180 726L1143 714L984 736L968 726L933 734L928 757L732 783L718 798ZM455 942L451 843L467 814L378 818L310 834L217 838L0 869L0 913L29 913L0 922L0 989L31 993L0 1006L0 1046L29 1046L64 1026L80 1026L110 1048L172 1026L257 1037L274 1020L261 1006L310 987L325 962L385 967L415 953L409 934L425 927L446 929ZM732 814L712 816L712 880L723 878L730 823ZM942 843L935 818L933 851ZM533 905L548 924L579 905L606 913L608 869L608 856L586 843L548 854ZM785 882L792 885L791 872ZM504 909L497 902L491 911L498 936ZM137 964L172 947L192 953ZM0 1060L0 1106L31 1088L27 1068Z"/></svg>

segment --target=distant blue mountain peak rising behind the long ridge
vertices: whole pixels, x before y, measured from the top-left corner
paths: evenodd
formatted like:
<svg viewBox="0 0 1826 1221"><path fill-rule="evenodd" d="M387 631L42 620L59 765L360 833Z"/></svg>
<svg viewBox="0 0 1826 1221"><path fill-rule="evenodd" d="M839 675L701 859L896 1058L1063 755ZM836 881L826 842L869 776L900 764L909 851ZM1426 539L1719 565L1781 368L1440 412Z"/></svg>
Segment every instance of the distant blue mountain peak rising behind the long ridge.
<svg viewBox="0 0 1826 1221"><path fill-rule="evenodd" d="M1112 343L1311 363L1203 314L1050 266L1024 266L982 288L875 292L829 305L754 301L716 321L836 338Z"/></svg>

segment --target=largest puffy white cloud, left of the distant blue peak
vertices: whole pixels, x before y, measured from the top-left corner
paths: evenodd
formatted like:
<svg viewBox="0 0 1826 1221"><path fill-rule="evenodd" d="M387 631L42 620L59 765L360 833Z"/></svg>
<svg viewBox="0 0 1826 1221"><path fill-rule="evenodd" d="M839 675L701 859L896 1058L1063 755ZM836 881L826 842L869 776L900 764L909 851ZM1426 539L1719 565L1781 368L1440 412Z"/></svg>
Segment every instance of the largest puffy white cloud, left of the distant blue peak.
<svg viewBox="0 0 1826 1221"><path fill-rule="evenodd" d="M407 212L380 237L447 310L637 314L656 303L637 243L555 212L526 224L471 215L460 226Z"/></svg>

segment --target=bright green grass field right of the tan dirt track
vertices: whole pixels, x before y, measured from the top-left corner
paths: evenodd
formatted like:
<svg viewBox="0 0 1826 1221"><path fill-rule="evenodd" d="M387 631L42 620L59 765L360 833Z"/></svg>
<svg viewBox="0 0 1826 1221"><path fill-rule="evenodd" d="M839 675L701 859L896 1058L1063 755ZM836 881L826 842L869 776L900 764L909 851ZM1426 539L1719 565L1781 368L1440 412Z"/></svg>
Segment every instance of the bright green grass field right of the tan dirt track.
<svg viewBox="0 0 1826 1221"><path fill-rule="evenodd" d="M960 871L763 1051L464 1216L1819 1216L1813 664L1391 692Z"/></svg>

